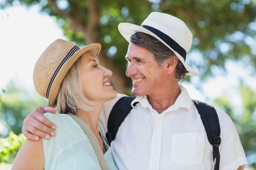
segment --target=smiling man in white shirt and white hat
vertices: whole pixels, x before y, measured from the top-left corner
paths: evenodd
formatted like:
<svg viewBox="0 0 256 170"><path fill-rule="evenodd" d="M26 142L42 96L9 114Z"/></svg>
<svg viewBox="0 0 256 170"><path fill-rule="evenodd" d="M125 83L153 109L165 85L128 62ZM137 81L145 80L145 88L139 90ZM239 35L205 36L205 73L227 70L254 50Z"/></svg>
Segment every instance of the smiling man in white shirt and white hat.
<svg viewBox="0 0 256 170"><path fill-rule="evenodd" d="M213 147L202 120L186 89L178 85L185 74L197 75L185 63L192 44L186 24L177 17L154 12L141 26L121 23L118 29L130 43L125 57L129 62L126 75L133 81L133 95L138 96L111 142L118 168L213 170ZM107 102L102 109L102 134L107 131L113 105L122 96ZM236 128L227 114L216 110L222 140L219 169L242 170L247 161ZM55 126L42 113L54 111L49 107L34 110L24 120L24 135L30 139L36 137L31 133L45 138L53 136Z"/></svg>

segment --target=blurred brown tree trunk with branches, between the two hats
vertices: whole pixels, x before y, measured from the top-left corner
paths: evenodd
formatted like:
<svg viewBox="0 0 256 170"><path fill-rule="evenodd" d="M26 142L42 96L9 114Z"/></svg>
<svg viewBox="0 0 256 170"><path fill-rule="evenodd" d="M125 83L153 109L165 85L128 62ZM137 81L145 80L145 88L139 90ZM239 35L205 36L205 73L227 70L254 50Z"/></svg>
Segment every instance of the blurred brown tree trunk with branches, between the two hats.
<svg viewBox="0 0 256 170"><path fill-rule="evenodd" d="M55 11L57 14L64 18L69 18L71 20L70 28L74 32L82 32L84 40L88 44L99 42L99 12L97 0L88 0L87 10L89 19L86 23L82 20L82 9L79 6L79 1L73 1L73 5L76 6L76 11L73 11L72 13L68 13L66 11L59 9L55 0L48 0L48 3L51 6L51 9ZM98 59L104 67L113 71L113 75L110 79L114 89L118 93L126 94L126 87L128 85L125 85L125 75L121 75L120 70L118 70L118 68L115 67L113 60L102 51L105 51L105 49L101 49Z"/></svg>

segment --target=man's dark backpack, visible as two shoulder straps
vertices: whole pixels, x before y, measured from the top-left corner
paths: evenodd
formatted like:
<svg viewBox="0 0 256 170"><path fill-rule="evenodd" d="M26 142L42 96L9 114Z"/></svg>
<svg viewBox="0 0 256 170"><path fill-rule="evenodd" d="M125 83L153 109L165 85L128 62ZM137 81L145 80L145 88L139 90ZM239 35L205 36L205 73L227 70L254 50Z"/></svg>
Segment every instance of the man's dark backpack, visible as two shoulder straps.
<svg viewBox="0 0 256 170"><path fill-rule="evenodd" d="M131 106L131 102L135 98L136 97L134 96L122 97L113 106L108 118L108 132L106 133L109 145L111 144L111 141L116 138L118 128L120 127L121 123L133 109L133 107ZM220 155L218 147L220 145L221 139L217 112L215 108L211 105L196 100L192 101L194 102L200 118L203 122L208 141L213 145L213 155L214 159L216 159L214 170L219 170ZM137 103L138 102L134 103L134 106Z"/></svg>

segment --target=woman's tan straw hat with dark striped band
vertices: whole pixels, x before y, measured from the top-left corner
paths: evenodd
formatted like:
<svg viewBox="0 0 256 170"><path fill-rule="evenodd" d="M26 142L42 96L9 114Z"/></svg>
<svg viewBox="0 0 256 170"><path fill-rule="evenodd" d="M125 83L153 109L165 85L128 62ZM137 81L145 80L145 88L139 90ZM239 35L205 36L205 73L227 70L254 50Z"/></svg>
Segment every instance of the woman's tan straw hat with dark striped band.
<svg viewBox="0 0 256 170"><path fill-rule="evenodd" d="M86 51L97 56L100 48L100 44L79 48L69 41L57 39L43 51L35 65L33 81L37 92L48 99L49 106L55 104L60 84L77 59Z"/></svg>

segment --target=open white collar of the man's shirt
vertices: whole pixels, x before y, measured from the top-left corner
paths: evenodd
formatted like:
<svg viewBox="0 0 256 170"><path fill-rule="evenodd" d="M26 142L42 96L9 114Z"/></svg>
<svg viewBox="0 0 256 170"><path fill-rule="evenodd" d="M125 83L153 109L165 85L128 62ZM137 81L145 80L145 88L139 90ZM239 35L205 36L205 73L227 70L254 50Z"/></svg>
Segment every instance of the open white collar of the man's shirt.
<svg viewBox="0 0 256 170"><path fill-rule="evenodd" d="M179 85L179 88L180 88L181 92L178 95L175 103L173 105L171 105L168 109L166 109L166 111L169 111L170 109L174 110L174 108L185 108L187 110L191 109L192 100L191 100L187 90L182 85ZM136 97L131 103L131 106L133 108L135 107L136 102L139 102L142 107L148 107L150 109L153 109L152 106L148 102L147 96Z"/></svg>

